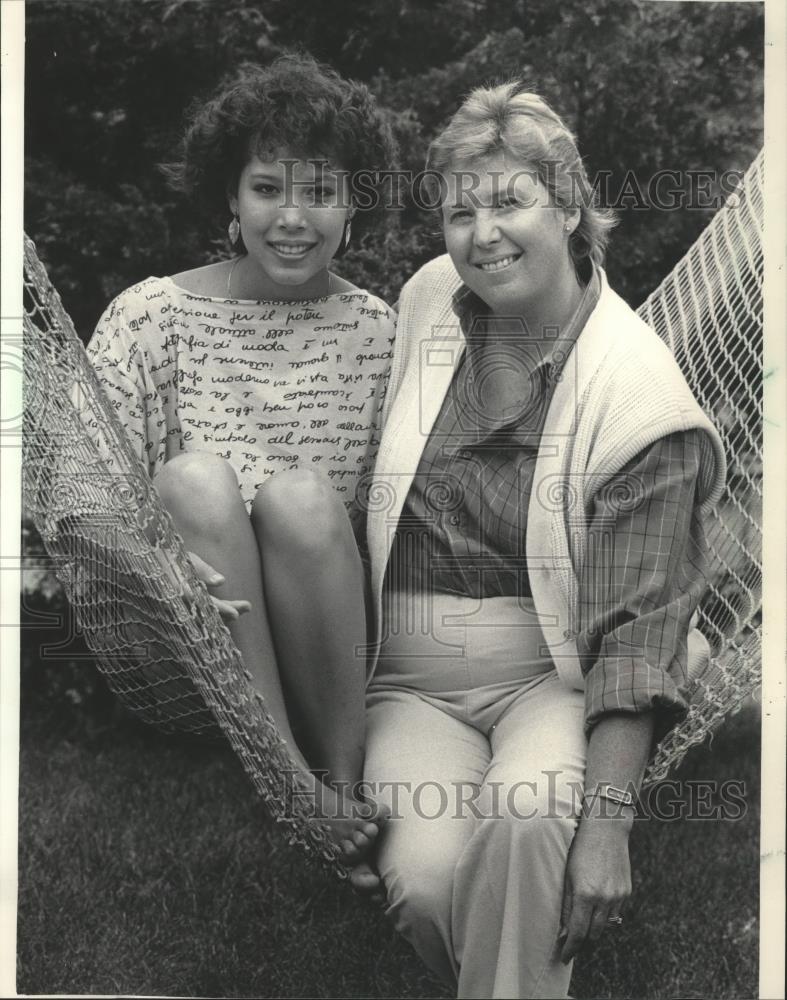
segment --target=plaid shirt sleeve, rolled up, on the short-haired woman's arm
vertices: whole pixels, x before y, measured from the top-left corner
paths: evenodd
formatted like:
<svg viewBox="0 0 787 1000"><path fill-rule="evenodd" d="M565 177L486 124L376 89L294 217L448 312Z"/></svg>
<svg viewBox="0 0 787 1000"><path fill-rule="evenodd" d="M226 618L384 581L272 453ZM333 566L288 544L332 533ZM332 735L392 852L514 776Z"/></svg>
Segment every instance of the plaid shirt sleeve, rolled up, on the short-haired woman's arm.
<svg viewBox="0 0 787 1000"><path fill-rule="evenodd" d="M701 433L660 438L594 497L577 637L588 730L608 712L656 711L659 739L686 713L687 637L706 585Z"/></svg>

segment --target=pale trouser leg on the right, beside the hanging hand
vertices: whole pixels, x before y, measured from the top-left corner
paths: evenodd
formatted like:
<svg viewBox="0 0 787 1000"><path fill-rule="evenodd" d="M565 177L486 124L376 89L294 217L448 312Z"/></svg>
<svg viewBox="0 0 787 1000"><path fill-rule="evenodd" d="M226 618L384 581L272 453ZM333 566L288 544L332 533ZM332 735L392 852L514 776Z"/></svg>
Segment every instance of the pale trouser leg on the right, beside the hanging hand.
<svg viewBox="0 0 787 1000"><path fill-rule="evenodd" d="M565 997L557 938L581 805L584 698L556 675L523 692L491 735L485 816L456 866L460 997Z"/></svg>

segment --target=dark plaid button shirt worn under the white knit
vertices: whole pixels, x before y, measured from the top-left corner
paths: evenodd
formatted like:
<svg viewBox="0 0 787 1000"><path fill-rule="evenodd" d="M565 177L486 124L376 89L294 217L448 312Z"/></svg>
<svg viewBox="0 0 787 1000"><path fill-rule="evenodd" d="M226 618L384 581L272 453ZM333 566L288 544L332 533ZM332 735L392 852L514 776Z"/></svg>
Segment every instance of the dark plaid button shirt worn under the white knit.
<svg viewBox="0 0 787 1000"><path fill-rule="evenodd" d="M536 340L457 292L467 350L405 501L389 588L530 596L526 520L541 432L598 295L594 274L562 335ZM594 497L577 636L589 727L607 712L658 708L662 731L686 710L686 636L705 587L700 433L654 442Z"/></svg>

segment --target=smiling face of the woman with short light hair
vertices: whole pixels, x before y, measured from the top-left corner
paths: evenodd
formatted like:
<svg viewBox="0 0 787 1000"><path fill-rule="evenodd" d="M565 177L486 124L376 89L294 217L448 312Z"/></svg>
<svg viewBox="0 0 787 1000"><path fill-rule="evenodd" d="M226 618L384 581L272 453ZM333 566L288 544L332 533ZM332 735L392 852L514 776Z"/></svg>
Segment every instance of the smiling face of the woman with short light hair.
<svg viewBox="0 0 787 1000"><path fill-rule="evenodd" d="M446 249L464 283L495 315L561 321L579 289L568 250L578 209L555 205L532 166L502 153L445 183Z"/></svg>

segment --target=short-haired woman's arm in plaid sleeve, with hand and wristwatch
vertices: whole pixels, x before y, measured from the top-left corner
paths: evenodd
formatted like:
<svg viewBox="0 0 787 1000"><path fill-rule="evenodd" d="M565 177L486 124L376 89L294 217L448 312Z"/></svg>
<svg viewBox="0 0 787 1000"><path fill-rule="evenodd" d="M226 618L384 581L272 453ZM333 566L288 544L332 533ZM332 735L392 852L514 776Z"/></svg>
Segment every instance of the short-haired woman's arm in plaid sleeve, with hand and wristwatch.
<svg viewBox="0 0 787 1000"><path fill-rule="evenodd" d="M595 498L578 638L589 729L585 806L566 869L564 961L599 937L631 893L635 810L595 793L604 785L636 792L654 740L686 709L686 637L705 586L694 505L699 433L656 441Z"/></svg>

